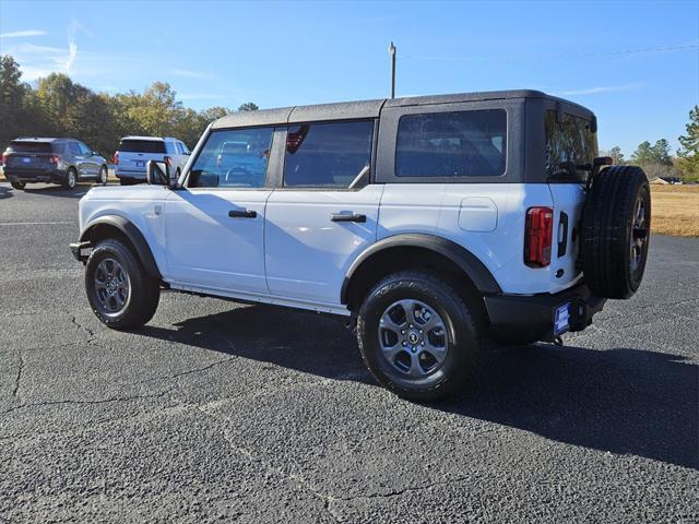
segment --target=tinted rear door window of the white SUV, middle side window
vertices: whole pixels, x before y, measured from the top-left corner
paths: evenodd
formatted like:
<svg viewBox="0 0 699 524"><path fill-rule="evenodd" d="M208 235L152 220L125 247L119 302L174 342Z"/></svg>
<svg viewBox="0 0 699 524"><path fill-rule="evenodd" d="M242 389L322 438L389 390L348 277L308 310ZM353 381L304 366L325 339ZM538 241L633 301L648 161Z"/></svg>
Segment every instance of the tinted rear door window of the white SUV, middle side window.
<svg viewBox="0 0 699 524"><path fill-rule="evenodd" d="M372 121L288 128L284 187L348 188L371 165Z"/></svg>

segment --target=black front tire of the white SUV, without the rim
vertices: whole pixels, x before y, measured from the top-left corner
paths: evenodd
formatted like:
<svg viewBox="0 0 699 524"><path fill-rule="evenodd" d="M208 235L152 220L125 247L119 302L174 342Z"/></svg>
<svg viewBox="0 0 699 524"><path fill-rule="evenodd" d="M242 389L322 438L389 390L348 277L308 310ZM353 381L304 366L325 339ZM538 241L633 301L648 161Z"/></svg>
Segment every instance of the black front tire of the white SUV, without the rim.
<svg viewBox="0 0 699 524"><path fill-rule="evenodd" d="M129 278L129 296L117 314L106 314L96 295L95 272L105 259L114 259L126 270ZM107 327L122 330L145 324L155 314L161 297L159 283L147 274L133 251L121 240L100 241L90 253L85 266L85 290L95 315Z"/></svg>

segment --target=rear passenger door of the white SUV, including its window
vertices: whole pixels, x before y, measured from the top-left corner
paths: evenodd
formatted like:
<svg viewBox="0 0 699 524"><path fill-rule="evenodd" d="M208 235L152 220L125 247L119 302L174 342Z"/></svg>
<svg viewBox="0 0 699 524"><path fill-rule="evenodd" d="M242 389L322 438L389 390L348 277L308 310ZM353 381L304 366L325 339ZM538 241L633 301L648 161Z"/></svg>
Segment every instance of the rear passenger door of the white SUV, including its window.
<svg viewBox="0 0 699 524"><path fill-rule="evenodd" d="M383 187L368 184L375 121L291 126L283 180L266 205L273 295L340 303L352 260L376 241Z"/></svg>

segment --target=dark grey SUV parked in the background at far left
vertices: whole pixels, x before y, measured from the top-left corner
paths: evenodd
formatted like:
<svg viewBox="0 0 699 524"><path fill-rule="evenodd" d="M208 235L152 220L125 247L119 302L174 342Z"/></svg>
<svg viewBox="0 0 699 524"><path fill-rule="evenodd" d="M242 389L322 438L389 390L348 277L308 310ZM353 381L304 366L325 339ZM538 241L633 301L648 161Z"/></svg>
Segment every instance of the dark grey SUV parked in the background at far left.
<svg viewBox="0 0 699 524"><path fill-rule="evenodd" d="M72 189L81 180L107 182L107 163L74 139L20 138L2 154L4 177L14 189L27 182L60 183Z"/></svg>

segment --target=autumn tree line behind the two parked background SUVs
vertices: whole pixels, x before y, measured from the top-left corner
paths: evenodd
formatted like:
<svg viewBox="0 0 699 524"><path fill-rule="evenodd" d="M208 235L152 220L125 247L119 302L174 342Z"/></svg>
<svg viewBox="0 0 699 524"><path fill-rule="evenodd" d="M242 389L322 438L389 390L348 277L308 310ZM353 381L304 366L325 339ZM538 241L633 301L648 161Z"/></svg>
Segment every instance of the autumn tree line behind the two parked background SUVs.
<svg viewBox="0 0 699 524"><path fill-rule="evenodd" d="M154 82L143 93L95 93L61 73L22 82L20 64L0 57L0 148L17 136L71 136L106 158L129 134L176 136L193 147L206 126L232 109L185 107L166 82ZM242 104L238 111L258 109Z"/></svg>

